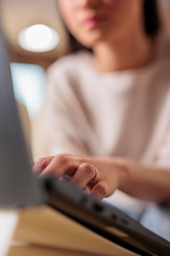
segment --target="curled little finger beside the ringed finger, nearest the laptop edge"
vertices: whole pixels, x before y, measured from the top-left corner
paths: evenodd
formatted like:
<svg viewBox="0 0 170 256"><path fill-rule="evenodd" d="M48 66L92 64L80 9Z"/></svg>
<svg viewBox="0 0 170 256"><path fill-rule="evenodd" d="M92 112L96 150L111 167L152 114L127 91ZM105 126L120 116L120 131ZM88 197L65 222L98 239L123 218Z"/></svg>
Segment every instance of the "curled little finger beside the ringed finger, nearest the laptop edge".
<svg viewBox="0 0 170 256"><path fill-rule="evenodd" d="M91 195L95 196L98 200L102 200L107 196L108 186L103 181L98 181L91 191Z"/></svg>

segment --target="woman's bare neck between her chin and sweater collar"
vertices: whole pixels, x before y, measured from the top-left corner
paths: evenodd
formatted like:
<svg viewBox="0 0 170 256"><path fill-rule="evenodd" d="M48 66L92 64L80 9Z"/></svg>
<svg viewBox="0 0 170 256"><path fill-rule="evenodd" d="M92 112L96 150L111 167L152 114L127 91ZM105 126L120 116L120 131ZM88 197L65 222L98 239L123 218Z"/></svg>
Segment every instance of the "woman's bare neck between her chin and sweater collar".
<svg viewBox="0 0 170 256"><path fill-rule="evenodd" d="M93 48L101 72L113 72L142 67L152 61L153 40L143 31L127 33L121 40L99 42Z"/></svg>

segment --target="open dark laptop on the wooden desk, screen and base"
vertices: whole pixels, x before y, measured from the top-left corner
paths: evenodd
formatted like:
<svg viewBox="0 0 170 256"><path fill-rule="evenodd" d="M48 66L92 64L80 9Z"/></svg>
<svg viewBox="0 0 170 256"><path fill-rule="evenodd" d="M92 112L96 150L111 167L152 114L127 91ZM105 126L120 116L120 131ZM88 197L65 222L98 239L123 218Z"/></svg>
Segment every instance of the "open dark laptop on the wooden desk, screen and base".
<svg viewBox="0 0 170 256"><path fill-rule="evenodd" d="M96 234L142 256L170 256L170 242L117 208L58 177L32 173L0 29L0 207L47 204ZM114 255L114 254L113 254Z"/></svg>

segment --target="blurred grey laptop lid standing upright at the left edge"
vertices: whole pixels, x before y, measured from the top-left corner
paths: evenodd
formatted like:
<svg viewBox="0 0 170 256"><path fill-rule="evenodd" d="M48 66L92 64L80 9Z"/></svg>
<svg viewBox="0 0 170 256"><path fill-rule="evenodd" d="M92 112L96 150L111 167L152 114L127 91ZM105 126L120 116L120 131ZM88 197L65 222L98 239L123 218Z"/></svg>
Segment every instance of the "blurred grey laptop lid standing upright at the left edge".
<svg viewBox="0 0 170 256"><path fill-rule="evenodd" d="M0 206L40 202L38 179L31 172L0 27Z"/></svg>

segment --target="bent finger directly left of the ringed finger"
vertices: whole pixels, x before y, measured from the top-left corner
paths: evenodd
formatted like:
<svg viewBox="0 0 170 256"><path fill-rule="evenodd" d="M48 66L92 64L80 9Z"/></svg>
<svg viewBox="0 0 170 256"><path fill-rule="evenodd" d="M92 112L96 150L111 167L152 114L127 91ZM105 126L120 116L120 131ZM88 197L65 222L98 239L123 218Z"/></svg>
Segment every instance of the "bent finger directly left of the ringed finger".
<svg viewBox="0 0 170 256"><path fill-rule="evenodd" d="M68 157L66 155L57 155L53 157L41 175L53 174L61 177L67 174L69 177L71 177L79 165L79 161L72 157Z"/></svg>

